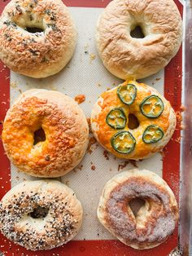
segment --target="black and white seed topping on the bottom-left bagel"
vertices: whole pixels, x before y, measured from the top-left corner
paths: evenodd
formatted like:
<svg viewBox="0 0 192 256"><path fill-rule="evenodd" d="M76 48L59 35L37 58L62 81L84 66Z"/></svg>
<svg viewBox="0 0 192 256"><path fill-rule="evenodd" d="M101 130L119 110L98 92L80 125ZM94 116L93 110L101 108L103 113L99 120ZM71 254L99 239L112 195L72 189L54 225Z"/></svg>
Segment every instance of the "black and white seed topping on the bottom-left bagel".
<svg viewBox="0 0 192 256"><path fill-rule="evenodd" d="M47 195L45 192L20 192L13 195L6 204L0 203L0 229L8 239L28 249L49 249L50 241L53 245L60 245L71 240L76 232L76 219L66 208L67 202L55 194ZM39 232L26 223L25 230L19 228L21 219L29 216L37 207L46 208L49 218L46 219L44 231ZM32 218L32 217L28 217ZM40 218L40 216L38 216ZM45 217L43 217L45 218ZM41 219L43 219L41 218ZM27 228L26 228L27 227Z"/></svg>

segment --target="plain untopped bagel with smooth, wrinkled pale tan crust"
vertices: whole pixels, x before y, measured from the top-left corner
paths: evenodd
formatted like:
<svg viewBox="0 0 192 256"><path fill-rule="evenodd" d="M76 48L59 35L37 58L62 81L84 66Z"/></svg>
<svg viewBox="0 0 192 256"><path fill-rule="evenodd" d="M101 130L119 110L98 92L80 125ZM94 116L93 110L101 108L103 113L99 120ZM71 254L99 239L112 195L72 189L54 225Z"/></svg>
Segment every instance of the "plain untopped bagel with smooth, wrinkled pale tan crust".
<svg viewBox="0 0 192 256"><path fill-rule="evenodd" d="M144 38L133 38L140 27ZM181 46L181 15L173 0L114 0L97 25L98 54L121 79L148 77L164 68Z"/></svg>

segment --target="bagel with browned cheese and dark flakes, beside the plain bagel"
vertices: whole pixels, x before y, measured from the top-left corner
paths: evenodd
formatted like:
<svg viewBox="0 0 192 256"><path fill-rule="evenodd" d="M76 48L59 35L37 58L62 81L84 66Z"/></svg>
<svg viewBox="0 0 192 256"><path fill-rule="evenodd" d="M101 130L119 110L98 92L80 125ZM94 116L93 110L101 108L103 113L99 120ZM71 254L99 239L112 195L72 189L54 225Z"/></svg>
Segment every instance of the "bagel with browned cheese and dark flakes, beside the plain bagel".
<svg viewBox="0 0 192 256"><path fill-rule="evenodd" d="M76 29L61 0L12 0L2 12L0 59L17 73L59 73L75 46Z"/></svg>

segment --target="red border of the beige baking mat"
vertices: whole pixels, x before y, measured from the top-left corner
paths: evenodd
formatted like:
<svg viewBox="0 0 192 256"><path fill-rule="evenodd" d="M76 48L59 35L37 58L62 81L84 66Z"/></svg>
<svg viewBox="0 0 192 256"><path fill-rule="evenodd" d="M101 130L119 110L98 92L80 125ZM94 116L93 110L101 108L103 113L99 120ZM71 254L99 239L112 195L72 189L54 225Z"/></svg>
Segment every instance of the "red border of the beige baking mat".
<svg viewBox="0 0 192 256"><path fill-rule="evenodd" d="M0 1L0 13L10 1ZM65 0L68 7L99 7L104 8L109 0ZM183 6L181 2L175 0L181 15ZM171 13L170 13L171 15ZM83 17L82 17L83 18ZM164 96L168 99L177 113L181 112L181 73L182 73L182 48L178 51L174 59L165 68L164 73ZM0 62L0 131L2 122L10 106L10 71ZM164 148L163 158L163 178L174 192L177 201L179 199L179 170L180 170L180 118L177 121L177 129L172 140ZM11 189L11 166L7 159L0 141L0 198ZM178 245L178 232L176 231L162 245L154 249L136 250L126 246L116 240L100 241L70 241L57 249L48 251L32 252L19 245L14 245L7 241L5 236L0 234L0 251L5 255L33 255L33 256L166 256Z"/></svg>

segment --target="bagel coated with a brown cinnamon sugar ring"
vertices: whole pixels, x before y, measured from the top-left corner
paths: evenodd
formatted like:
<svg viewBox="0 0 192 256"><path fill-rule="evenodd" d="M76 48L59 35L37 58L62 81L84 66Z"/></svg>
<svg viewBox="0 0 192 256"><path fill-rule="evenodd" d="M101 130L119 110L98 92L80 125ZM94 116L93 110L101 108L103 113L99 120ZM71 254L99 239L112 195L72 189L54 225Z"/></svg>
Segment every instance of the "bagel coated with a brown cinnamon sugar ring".
<svg viewBox="0 0 192 256"><path fill-rule="evenodd" d="M133 199L144 205L133 214ZM149 170L129 170L109 180L98 204L98 219L113 236L135 249L163 243L174 231L178 207L172 190Z"/></svg>

